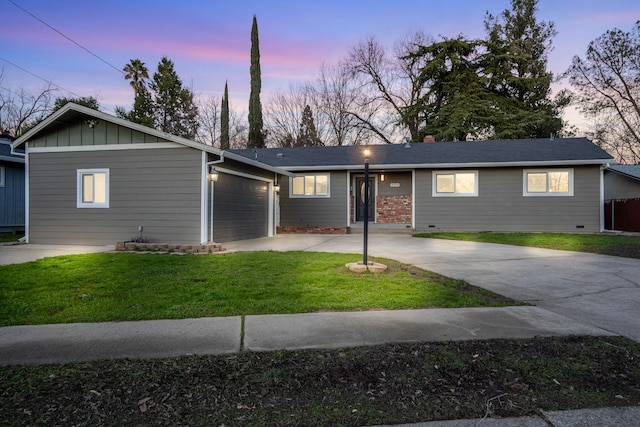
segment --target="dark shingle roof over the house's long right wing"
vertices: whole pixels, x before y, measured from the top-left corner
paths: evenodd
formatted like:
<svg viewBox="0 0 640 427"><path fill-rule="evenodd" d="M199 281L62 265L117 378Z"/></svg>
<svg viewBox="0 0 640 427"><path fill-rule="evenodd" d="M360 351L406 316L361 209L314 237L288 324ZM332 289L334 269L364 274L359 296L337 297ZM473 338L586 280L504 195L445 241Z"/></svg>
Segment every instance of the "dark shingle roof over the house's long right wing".
<svg viewBox="0 0 640 427"><path fill-rule="evenodd" d="M509 164L604 164L613 158L586 138L487 140L230 150L290 170L361 167L369 149L372 166L464 167Z"/></svg>

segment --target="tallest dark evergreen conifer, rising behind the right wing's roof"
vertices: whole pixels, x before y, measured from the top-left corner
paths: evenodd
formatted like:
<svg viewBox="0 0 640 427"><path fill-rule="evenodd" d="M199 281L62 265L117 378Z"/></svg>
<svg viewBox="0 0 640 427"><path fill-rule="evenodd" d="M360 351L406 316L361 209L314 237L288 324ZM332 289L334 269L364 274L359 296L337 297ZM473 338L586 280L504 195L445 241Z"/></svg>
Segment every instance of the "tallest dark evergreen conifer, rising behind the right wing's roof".
<svg viewBox="0 0 640 427"><path fill-rule="evenodd" d="M487 13L479 58L500 114L491 118L493 138L542 138L562 130L565 100L551 100L553 73L547 53L557 34L553 22L538 21L538 0L511 0L500 17Z"/></svg>

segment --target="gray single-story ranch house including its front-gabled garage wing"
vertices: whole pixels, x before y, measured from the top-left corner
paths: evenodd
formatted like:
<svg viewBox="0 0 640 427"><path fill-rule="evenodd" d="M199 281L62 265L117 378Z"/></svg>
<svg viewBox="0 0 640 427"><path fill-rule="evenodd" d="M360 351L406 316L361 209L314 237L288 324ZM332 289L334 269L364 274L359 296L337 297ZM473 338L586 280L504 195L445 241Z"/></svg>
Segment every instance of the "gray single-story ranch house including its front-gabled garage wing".
<svg viewBox="0 0 640 427"><path fill-rule="evenodd" d="M221 151L75 104L14 147L28 241L68 244L347 233L364 217L365 157L374 226L599 232L613 162L585 138Z"/></svg>

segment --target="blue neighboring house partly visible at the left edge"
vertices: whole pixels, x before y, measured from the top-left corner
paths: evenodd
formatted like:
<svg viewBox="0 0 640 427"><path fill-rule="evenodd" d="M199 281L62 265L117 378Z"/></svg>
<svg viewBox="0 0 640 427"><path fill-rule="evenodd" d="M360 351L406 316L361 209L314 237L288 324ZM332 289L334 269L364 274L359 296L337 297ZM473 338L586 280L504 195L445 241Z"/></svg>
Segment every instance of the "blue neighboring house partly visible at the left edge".
<svg viewBox="0 0 640 427"><path fill-rule="evenodd" d="M24 152L0 135L0 232L24 231Z"/></svg>

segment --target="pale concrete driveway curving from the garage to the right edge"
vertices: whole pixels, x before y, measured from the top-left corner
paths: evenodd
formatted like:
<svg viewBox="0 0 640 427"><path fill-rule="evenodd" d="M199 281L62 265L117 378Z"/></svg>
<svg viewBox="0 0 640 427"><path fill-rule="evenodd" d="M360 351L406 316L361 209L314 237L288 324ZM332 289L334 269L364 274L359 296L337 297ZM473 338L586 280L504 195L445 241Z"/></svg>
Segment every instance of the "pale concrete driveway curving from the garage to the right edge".
<svg viewBox="0 0 640 427"><path fill-rule="evenodd" d="M362 253L358 234L279 235L228 251ZM393 258L640 341L640 260L489 243L369 235L369 254ZM355 257L354 261L359 260Z"/></svg>

